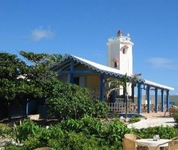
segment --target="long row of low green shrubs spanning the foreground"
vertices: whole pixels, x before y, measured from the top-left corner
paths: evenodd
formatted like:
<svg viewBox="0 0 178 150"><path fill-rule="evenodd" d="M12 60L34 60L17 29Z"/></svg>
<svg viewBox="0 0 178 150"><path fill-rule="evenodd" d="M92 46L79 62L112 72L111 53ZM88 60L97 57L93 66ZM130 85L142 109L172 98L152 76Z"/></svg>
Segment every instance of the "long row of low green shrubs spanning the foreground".
<svg viewBox="0 0 178 150"><path fill-rule="evenodd" d="M103 120L85 115L83 118L63 120L48 129L31 120L23 120L14 127L15 136L23 143L21 147L8 145L9 150L31 150L37 147L52 147L56 150L121 150L122 138L130 132L119 120Z"/></svg>

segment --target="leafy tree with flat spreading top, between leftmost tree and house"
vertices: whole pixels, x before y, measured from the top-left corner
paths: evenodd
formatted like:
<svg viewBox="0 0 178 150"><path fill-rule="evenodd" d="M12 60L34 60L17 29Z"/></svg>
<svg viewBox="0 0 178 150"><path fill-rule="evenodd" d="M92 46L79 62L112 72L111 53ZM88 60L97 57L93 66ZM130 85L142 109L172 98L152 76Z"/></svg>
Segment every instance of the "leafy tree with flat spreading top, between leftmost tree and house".
<svg viewBox="0 0 178 150"><path fill-rule="evenodd" d="M33 52L20 51L19 54L30 62L26 67L25 80L26 84L19 86L21 99L25 102L29 99L45 98L49 94L48 84L51 78L57 74L50 70L50 66L61 60L62 56L57 54L35 54ZM24 80L24 79L23 79ZM22 80L21 80L22 81ZM26 116L26 114L25 114Z"/></svg>

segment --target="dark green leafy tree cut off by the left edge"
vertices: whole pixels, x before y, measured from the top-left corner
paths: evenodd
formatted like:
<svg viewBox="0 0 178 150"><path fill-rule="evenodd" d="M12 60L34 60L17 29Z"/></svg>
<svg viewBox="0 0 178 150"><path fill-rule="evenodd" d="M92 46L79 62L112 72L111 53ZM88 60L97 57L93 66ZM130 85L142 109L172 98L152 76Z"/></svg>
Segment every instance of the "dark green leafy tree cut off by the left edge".
<svg viewBox="0 0 178 150"><path fill-rule="evenodd" d="M11 101L18 95L17 79L24 71L25 63L16 55L0 53L0 118L10 119Z"/></svg>

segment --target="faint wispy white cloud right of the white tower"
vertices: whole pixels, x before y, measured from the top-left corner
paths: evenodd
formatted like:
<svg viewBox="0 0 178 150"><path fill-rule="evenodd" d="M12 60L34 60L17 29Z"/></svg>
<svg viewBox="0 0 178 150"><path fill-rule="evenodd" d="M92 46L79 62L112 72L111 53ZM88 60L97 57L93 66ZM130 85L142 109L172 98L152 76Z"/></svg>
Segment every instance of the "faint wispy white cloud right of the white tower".
<svg viewBox="0 0 178 150"><path fill-rule="evenodd" d="M178 60L177 59L167 59L167 58L150 58L147 60L151 63L153 68L158 69L169 69L169 70L177 70L178 69Z"/></svg>

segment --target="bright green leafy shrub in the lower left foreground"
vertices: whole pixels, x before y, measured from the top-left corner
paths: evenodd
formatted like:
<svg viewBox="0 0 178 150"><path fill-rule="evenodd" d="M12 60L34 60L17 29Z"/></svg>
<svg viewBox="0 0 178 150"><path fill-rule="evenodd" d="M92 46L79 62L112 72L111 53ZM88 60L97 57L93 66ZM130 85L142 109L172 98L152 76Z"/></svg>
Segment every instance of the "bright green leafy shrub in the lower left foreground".
<svg viewBox="0 0 178 150"><path fill-rule="evenodd" d="M24 150L50 146L51 143L54 143L53 140L58 142L59 146L65 140L64 133L59 125L49 126L47 129L28 119L23 120L19 126L15 126L14 131L16 140L23 143L20 148Z"/></svg>

